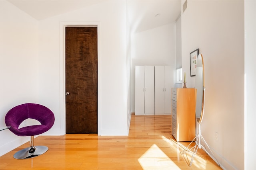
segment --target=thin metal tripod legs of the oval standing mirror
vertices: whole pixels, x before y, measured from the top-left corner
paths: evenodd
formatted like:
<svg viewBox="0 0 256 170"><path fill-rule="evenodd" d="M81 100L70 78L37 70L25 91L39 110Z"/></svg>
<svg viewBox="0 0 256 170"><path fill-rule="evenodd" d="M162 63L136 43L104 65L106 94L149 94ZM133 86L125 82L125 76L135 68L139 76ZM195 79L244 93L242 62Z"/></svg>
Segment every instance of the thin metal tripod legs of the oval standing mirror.
<svg viewBox="0 0 256 170"><path fill-rule="evenodd" d="M193 143L193 141L196 140L196 145L194 147L192 147L191 149L188 149L188 147ZM210 150L210 152L212 153L212 155L209 154L209 152L205 149L204 146L201 145L201 140L205 143L205 145L208 147L208 149ZM218 166L220 166L218 160L215 158L212 150L210 149L210 147L208 146L208 144L206 143L206 141L204 140L202 134L201 134L201 129L200 129L200 123L199 123L199 126L198 126L198 135L196 135L196 137L190 142L190 144L188 145L188 147L186 147L186 149L183 150L182 154L185 154L186 152L190 152L190 150L192 150L194 148L194 151L193 151L193 154L192 154L192 158L191 158L191 161L190 161L190 164L189 166L192 165L192 162L194 160L194 157L196 155L196 151L199 149L203 149L206 154L208 154L215 162L216 164L218 164Z"/></svg>

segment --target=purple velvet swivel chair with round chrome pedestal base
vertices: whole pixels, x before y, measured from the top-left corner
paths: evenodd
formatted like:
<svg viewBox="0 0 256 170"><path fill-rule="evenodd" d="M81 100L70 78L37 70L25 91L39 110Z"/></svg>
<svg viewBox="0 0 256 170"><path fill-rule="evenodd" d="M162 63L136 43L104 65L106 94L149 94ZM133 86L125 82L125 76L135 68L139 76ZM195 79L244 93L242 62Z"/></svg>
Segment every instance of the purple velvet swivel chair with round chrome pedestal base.
<svg viewBox="0 0 256 170"><path fill-rule="evenodd" d="M26 119L36 119L41 125L21 127L20 124ZM31 136L30 147L22 149L14 154L16 159L27 159L39 156L48 150L45 146L34 146L34 135L40 135L48 131L54 123L54 114L50 109L40 104L26 103L15 106L5 116L6 126L18 136Z"/></svg>

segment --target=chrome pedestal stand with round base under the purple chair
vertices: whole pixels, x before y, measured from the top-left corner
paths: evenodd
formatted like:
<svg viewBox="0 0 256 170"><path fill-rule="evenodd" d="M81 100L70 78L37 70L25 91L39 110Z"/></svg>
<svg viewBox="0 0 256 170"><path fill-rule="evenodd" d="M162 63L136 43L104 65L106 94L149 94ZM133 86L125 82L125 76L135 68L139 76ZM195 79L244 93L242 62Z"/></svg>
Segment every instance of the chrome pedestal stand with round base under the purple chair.
<svg viewBox="0 0 256 170"><path fill-rule="evenodd" d="M48 150L45 146L34 146L34 136L30 138L30 147L22 149L14 154L15 159L28 159L44 154Z"/></svg>

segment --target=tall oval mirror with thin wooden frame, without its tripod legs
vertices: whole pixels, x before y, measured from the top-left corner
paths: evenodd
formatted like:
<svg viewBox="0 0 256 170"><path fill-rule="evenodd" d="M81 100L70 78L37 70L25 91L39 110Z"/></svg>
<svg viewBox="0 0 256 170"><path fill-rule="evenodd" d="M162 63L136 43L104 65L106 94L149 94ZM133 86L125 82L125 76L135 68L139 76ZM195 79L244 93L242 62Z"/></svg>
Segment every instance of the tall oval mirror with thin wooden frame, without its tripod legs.
<svg viewBox="0 0 256 170"><path fill-rule="evenodd" d="M198 55L196 62L196 120L202 122L204 115L204 60L202 54Z"/></svg>

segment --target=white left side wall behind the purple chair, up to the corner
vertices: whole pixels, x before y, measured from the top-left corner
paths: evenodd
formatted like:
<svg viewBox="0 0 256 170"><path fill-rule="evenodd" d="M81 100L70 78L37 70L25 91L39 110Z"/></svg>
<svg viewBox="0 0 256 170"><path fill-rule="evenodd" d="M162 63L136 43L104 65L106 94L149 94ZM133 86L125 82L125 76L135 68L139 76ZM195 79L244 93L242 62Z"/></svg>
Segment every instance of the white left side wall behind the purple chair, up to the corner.
<svg viewBox="0 0 256 170"><path fill-rule="evenodd" d="M1 4L0 126L14 106L38 103L38 21L6 2ZM9 130L0 132L0 156L27 142Z"/></svg>

